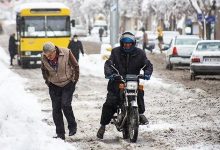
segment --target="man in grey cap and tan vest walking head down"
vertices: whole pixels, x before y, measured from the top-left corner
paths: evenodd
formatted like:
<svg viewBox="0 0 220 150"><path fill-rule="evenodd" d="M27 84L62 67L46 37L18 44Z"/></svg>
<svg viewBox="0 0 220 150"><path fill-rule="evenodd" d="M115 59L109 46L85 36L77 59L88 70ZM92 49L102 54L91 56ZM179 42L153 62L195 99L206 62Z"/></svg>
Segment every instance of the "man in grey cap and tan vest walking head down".
<svg viewBox="0 0 220 150"><path fill-rule="evenodd" d="M69 136L77 131L71 102L79 79L79 65L69 49L47 42L43 45L41 70L52 101L55 138L65 140L63 113L68 122Z"/></svg>

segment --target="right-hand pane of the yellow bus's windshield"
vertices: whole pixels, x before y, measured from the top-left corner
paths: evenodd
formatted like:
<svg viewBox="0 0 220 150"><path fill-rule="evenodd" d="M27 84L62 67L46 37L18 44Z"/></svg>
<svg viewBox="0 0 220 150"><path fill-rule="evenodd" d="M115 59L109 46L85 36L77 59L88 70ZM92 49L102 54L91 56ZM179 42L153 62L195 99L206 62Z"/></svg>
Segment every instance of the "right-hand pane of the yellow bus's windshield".
<svg viewBox="0 0 220 150"><path fill-rule="evenodd" d="M70 36L70 22L67 16L47 16L47 36Z"/></svg>

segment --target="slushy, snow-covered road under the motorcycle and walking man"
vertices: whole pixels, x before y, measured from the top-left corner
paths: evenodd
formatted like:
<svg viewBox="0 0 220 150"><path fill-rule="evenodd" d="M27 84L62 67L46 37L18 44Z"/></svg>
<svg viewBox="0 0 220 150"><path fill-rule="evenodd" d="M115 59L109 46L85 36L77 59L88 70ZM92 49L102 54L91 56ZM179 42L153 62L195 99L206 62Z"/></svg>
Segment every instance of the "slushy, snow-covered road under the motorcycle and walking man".
<svg viewBox="0 0 220 150"><path fill-rule="evenodd" d="M92 57L98 59L97 56ZM192 83L186 70L166 71L163 63L158 61L163 59L163 55L149 54L149 58L155 67L152 80L145 82L145 115L150 124L140 127L137 143L123 140L122 134L113 125L107 127L104 140L96 138L107 80L98 73L87 74L88 68L83 65L80 66L82 74L72 104L78 132L73 137L67 136L67 142L77 145L79 149L93 150L220 149L219 80L201 79ZM89 62L88 59L91 59L90 56L81 61ZM95 60L90 63L90 66L97 65ZM27 79L25 88L38 97L43 121L54 126L48 88L40 69L15 66L11 70Z"/></svg>

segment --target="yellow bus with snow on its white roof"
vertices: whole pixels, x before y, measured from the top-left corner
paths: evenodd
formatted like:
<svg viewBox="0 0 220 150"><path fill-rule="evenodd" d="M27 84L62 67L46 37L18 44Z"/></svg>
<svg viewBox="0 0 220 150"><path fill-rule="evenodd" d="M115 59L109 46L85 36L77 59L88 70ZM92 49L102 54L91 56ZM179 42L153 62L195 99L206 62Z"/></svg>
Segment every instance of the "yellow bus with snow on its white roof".
<svg viewBox="0 0 220 150"><path fill-rule="evenodd" d="M25 3L17 8L16 32L18 65L27 68L41 64L43 44L47 41L67 47L74 20L70 9L62 3Z"/></svg>

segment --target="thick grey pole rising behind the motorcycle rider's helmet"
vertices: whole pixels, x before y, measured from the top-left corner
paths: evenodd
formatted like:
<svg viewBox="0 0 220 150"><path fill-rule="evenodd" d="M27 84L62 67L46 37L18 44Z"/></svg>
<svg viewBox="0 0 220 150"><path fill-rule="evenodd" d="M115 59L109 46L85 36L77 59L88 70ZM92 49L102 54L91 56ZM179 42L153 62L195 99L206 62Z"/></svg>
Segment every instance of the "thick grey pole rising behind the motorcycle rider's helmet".
<svg viewBox="0 0 220 150"><path fill-rule="evenodd" d="M110 44L112 47L118 43L119 13L118 0L112 0L110 7Z"/></svg>

